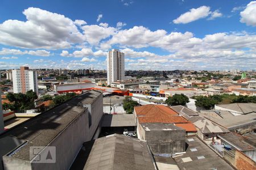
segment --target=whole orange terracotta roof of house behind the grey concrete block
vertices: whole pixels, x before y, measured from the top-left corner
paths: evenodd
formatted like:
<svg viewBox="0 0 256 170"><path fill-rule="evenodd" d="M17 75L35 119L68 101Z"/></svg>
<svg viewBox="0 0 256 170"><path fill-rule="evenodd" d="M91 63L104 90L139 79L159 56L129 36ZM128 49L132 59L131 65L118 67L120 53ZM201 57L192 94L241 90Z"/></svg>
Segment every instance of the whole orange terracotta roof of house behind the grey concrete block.
<svg viewBox="0 0 256 170"><path fill-rule="evenodd" d="M174 109L166 105L148 104L134 108L134 116L137 121L137 134L139 136L139 129L143 123L164 123L172 124L177 127L183 128L186 135L195 135L195 126L180 116Z"/></svg>

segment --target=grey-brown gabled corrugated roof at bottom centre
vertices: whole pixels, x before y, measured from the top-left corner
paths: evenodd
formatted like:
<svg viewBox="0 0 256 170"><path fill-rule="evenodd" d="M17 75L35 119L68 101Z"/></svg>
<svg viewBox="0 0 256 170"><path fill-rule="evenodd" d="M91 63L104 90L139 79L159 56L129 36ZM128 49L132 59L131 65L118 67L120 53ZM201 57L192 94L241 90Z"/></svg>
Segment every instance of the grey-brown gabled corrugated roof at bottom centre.
<svg viewBox="0 0 256 170"><path fill-rule="evenodd" d="M155 167L146 142L113 134L96 139L84 169L154 170Z"/></svg>

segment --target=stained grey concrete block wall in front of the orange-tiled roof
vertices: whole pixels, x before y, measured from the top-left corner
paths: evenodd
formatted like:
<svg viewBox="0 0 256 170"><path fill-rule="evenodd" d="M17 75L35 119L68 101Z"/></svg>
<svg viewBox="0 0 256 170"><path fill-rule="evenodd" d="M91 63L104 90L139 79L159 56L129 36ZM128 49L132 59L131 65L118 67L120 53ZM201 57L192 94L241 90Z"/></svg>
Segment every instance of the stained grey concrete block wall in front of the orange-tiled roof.
<svg viewBox="0 0 256 170"><path fill-rule="evenodd" d="M144 140L147 141L153 154L173 154L185 151L185 130L153 130L144 131L144 133Z"/></svg>

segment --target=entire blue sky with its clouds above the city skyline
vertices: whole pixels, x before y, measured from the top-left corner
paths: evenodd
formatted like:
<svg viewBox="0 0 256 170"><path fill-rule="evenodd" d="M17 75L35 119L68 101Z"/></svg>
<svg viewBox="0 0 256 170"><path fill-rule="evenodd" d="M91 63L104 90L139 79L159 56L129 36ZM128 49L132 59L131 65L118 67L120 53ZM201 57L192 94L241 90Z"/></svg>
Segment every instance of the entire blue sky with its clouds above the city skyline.
<svg viewBox="0 0 256 170"><path fill-rule="evenodd" d="M256 1L0 1L0 69L256 69Z"/></svg>

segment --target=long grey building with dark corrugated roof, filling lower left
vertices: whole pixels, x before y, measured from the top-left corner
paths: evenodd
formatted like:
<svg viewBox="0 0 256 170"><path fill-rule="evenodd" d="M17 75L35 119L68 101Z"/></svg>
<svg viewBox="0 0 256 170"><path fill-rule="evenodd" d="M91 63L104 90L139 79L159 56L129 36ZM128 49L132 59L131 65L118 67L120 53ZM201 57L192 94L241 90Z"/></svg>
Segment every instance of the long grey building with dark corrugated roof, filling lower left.
<svg viewBox="0 0 256 170"><path fill-rule="evenodd" d="M0 146L3 168L69 169L82 144L97 138L102 105L101 92L86 91L6 131L0 135L0 143L8 143ZM55 147L51 155L52 160L56 155L56 162L38 163L40 158L47 159L50 146Z"/></svg>

